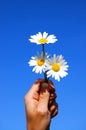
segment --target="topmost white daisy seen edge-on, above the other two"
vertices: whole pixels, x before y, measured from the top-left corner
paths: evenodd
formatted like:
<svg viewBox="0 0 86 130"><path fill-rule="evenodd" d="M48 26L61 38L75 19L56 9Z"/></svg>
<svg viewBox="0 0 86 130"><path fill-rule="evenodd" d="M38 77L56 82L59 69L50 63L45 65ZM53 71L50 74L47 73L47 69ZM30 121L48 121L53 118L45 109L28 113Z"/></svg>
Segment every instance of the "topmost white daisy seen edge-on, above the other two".
<svg viewBox="0 0 86 130"><path fill-rule="evenodd" d="M48 44L48 43L55 43L58 39L56 39L56 36L48 35L48 33L44 32L43 34L41 32L38 32L36 35L32 35L31 39L29 39L30 42L37 43L37 44Z"/></svg>

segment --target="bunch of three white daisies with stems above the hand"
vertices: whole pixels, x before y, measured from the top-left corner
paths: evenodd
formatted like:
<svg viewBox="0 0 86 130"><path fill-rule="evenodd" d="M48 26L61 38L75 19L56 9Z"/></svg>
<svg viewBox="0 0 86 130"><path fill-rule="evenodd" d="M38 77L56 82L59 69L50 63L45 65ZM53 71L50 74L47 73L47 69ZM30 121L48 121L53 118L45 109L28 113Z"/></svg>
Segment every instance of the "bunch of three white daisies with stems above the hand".
<svg viewBox="0 0 86 130"><path fill-rule="evenodd" d="M28 62L30 66L33 66L33 70L35 73L44 72L44 78L48 79L50 76L55 78L55 80L60 81L60 78L68 75L68 65L62 55L54 54L53 57L50 58L49 54L45 52L45 44L53 44L58 39L54 35L48 35L48 33L44 32L43 34L39 32L36 35L32 35L29 39L30 42L36 43L37 45L42 45L42 53L37 53L36 56L31 57L31 60Z"/></svg>

